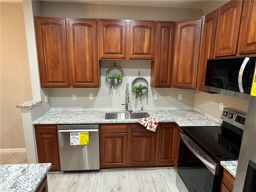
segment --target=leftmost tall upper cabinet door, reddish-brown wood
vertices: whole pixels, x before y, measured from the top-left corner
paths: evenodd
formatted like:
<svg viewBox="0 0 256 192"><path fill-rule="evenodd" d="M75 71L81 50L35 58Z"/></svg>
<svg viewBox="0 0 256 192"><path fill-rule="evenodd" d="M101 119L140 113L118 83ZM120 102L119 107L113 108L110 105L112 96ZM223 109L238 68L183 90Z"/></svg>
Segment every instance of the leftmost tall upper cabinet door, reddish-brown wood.
<svg viewBox="0 0 256 192"><path fill-rule="evenodd" d="M41 87L69 87L66 20L35 18Z"/></svg>

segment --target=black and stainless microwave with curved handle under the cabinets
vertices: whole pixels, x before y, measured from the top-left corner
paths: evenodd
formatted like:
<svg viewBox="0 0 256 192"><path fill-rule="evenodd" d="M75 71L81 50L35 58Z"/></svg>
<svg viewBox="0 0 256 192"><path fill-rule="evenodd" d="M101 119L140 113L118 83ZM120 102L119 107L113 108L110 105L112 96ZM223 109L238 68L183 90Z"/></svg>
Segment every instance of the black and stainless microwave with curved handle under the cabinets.
<svg viewBox="0 0 256 192"><path fill-rule="evenodd" d="M204 89L249 100L256 55L208 59Z"/></svg>

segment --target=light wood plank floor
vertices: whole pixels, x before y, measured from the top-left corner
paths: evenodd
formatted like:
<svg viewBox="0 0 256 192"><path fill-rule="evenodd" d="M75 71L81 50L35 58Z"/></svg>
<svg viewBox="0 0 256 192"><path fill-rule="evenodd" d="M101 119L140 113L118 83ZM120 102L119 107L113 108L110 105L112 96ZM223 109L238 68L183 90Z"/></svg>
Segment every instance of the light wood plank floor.
<svg viewBox="0 0 256 192"><path fill-rule="evenodd" d="M1 164L27 163L26 153L1 153ZM99 172L49 172L49 192L179 192L174 168L105 169Z"/></svg>

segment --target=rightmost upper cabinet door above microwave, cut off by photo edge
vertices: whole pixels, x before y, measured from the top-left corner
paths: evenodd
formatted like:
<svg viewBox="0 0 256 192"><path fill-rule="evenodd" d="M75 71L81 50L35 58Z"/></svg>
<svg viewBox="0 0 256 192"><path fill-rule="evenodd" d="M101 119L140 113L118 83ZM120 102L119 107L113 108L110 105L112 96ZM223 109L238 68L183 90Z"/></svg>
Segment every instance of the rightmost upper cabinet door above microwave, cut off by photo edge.
<svg viewBox="0 0 256 192"><path fill-rule="evenodd" d="M256 2L244 1L240 24L238 54L256 54Z"/></svg>

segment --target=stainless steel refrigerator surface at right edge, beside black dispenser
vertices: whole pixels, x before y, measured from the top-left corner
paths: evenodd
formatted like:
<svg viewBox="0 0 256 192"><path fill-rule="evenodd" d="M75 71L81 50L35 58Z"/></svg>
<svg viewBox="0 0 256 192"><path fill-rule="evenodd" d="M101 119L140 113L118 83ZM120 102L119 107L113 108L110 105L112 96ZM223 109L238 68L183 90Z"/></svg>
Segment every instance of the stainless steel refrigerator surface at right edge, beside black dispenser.
<svg viewBox="0 0 256 192"><path fill-rule="evenodd" d="M250 96L233 191L242 191L248 159L256 162L256 97Z"/></svg>

